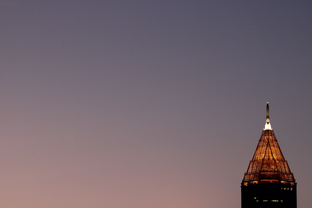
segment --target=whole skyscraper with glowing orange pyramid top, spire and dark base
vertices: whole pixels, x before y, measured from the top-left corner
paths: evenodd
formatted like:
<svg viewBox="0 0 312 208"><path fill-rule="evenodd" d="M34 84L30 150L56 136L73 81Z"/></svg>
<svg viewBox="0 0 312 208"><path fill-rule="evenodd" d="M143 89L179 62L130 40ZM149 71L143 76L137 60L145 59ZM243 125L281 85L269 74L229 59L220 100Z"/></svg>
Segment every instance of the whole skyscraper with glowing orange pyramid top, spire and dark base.
<svg viewBox="0 0 312 208"><path fill-rule="evenodd" d="M271 128L267 103L266 125L241 183L241 207L296 208L296 186Z"/></svg>

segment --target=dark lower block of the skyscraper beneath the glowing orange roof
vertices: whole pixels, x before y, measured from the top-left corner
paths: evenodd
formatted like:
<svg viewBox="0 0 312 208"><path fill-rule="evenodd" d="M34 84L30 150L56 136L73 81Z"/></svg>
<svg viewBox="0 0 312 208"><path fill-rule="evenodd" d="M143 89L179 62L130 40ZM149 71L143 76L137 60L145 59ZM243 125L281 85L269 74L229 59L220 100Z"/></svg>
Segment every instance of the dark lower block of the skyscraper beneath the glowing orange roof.
<svg viewBox="0 0 312 208"><path fill-rule="evenodd" d="M241 185L241 208L297 208L297 183Z"/></svg>

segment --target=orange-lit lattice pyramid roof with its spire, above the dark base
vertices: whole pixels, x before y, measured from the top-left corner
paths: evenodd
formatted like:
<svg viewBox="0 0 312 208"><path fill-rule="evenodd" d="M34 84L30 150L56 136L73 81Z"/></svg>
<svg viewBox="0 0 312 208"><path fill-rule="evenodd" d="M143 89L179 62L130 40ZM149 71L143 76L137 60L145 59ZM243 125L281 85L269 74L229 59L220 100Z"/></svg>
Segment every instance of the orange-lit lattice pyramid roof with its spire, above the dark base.
<svg viewBox="0 0 312 208"><path fill-rule="evenodd" d="M287 161L277 143L269 118L269 103L266 105L266 125L262 131L256 152L249 163L242 181L244 185L254 183L295 184Z"/></svg>

